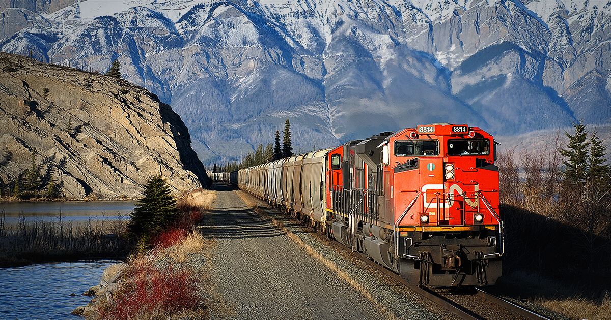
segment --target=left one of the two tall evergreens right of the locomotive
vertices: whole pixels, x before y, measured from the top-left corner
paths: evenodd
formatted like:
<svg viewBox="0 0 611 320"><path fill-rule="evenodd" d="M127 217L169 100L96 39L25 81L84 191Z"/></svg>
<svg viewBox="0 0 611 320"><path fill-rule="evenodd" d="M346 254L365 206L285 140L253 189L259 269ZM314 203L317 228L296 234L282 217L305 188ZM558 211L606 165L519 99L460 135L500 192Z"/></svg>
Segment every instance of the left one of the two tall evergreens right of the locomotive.
<svg viewBox="0 0 611 320"><path fill-rule="evenodd" d="M573 124L573 127L575 127L573 135L565 132L566 137L569 138L567 149L560 149L560 154L566 157L566 160L562 161L566 166L564 182L571 186L585 181L588 169L588 145L590 144L586 141L588 133L585 132L585 125L580 122Z"/></svg>

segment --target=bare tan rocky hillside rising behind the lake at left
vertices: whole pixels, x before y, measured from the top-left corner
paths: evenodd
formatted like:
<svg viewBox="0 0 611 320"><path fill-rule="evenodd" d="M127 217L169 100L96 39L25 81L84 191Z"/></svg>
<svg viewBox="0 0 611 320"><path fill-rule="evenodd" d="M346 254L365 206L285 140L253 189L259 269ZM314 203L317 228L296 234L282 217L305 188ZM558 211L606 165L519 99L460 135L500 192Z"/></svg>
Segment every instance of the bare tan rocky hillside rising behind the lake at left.
<svg viewBox="0 0 611 320"><path fill-rule="evenodd" d="M42 185L53 179L68 197L137 197L154 174L176 191L209 183L185 124L155 94L4 52L0 68L4 190L23 181L34 150Z"/></svg>

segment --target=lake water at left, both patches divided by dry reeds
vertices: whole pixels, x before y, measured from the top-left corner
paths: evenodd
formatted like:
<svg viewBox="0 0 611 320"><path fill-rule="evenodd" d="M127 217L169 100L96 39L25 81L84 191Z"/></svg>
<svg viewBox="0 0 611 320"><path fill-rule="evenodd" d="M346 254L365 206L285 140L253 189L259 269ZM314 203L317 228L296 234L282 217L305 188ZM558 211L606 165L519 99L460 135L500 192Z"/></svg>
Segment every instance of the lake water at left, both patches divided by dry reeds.
<svg viewBox="0 0 611 320"><path fill-rule="evenodd" d="M129 219L134 201L0 202L5 227L18 222L53 221L80 224ZM100 283L104 269L115 260L37 263L0 268L0 319L82 319L70 315L91 299L81 293ZM75 296L70 296L74 293Z"/></svg>

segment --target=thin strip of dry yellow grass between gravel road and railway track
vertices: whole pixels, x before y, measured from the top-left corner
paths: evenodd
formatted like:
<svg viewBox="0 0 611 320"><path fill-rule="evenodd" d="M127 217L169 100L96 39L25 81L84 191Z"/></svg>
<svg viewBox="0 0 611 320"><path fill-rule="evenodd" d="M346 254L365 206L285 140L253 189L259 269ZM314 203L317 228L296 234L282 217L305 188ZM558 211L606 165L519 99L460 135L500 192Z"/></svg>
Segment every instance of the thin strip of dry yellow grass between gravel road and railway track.
<svg viewBox="0 0 611 320"><path fill-rule="evenodd" d="M254 207L255 211L257 211L257 213L261 216L264 216L265 218L269 218L268 216L265 215L265 212L263 212L262 208L258 207L257 201L255 199L253 199L252 197L248 196L246 193L244 193L243 191L236 191L238 193L238 196L241 197L241 199L246 202L247 205ZM346 283L348 283L348 285L352 286L356 291L358 291L360 294L362 294L367 300L369 300L371 302L371 304L373 304L373 306L378 309L378 311L384 315L384 317L386 319L389 320L397 320L397 316L395 316L392 312L386 310L386 308L384 308L384 306L378 301L376 300L373 296L371 296L371 293L364 288L364 286L360 285L360 283L356 282L354 279L352 279L350 276L348 276L348 274L346 274L346 272L344 272L342 269L338 268L335 263L333 263L333 261L328 260L327 258L323 257L323 255L321 255L320 253L318 253L317 251L315 251L309 244L304 243L303 240L301 240L301 238L299 238L299 236L295 235L295 233L291 232L291 230L288 230L287 227L284 226L284 224L280 221L277 221L274 218L269 218L271 219L271 221L273 222L273 224L276 225L276 227L280 230L282 230L283 232L286 233L287 237L290 240L295 241L295 243L297 243L300 247L304 248L305 251L311 255L312 257L316 258L316 260L321 261L323 263L323 265L327 266L327 268L331 269L332 271L335 272L335 274L337 274L337 276L344 280Z"/></svg>

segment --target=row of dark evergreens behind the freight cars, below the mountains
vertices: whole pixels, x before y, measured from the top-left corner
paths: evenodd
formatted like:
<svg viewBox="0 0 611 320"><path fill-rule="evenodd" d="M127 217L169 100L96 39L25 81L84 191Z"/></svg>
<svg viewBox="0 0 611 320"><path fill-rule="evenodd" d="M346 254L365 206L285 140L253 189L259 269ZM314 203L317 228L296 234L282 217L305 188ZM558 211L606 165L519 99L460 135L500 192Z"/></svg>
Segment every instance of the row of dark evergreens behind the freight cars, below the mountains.
<svg viewBox="0 0 611 320"><path fill-rule="evenodd" d="M273 162L282 158L292 157L294 154L293 147L291 146L291 124L289 119L284 123L282 134L282 145L280 145L280 132L276 130L274 144L268 143L267 146L263 147L263 144L260 143L257 146L257 150L254 153L248 152L240 163L230 162L224 166L218 166L214 163L212 172L232 172L242 168L263 165L263 163Z"/></svg>

